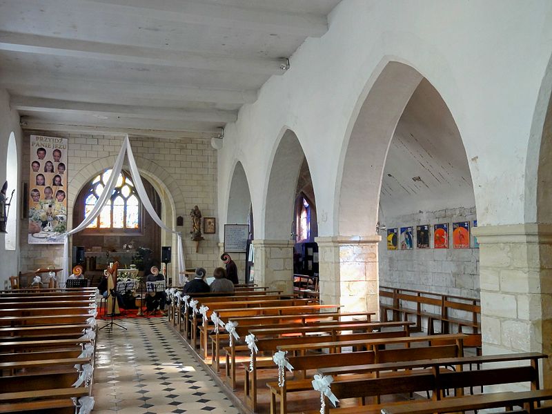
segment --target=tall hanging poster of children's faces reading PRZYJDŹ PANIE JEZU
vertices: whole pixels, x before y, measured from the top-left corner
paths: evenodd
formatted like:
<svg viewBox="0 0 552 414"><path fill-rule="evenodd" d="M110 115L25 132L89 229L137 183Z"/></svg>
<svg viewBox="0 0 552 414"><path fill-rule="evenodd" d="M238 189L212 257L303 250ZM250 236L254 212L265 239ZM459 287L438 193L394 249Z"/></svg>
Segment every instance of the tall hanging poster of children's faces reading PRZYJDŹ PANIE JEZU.
<svg viewBox="0 0 552 414"><path fill-rule="evenodd" d="M67 138L30 136L29 244L63 244L67 230Z"/></svg>

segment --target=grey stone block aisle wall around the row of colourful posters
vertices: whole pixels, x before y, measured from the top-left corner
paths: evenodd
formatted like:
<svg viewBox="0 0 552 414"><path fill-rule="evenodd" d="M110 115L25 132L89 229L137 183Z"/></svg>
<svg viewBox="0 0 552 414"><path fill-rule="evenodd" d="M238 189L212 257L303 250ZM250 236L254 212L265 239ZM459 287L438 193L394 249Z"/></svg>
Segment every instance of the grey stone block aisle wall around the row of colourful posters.
<svg viewBox="0 0 552 414"><path fill-rule="evenodd" d="M413 226L413 250L387 250L386 238L379 246L380 285L427 290L466 297L479 297L479 249L455 249L452 244L452 224L477 219L474 208L447 208L403 217L386 218L387 228ZM433 224L449 223L449 248L433 248ZM429 224L431 248L416 248L416 226Z"/></svg>

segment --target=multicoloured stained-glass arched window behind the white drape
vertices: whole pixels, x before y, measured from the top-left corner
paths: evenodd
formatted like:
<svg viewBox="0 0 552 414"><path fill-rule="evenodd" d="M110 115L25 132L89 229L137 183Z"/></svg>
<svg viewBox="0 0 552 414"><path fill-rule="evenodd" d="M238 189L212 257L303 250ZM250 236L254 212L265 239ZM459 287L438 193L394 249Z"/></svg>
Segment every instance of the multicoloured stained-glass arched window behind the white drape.
<svg viewBox="0 0 552 414"><path fill-rule="evenodd" d="M88 216L103 193L112 170L97 175L84 195L84 217ZM137 197L132 179L126 172L119 173L113 194L103 206L97 217L88 228L99 231L120 230L125 233L138 233L141 230L141 203Z"/></svg>

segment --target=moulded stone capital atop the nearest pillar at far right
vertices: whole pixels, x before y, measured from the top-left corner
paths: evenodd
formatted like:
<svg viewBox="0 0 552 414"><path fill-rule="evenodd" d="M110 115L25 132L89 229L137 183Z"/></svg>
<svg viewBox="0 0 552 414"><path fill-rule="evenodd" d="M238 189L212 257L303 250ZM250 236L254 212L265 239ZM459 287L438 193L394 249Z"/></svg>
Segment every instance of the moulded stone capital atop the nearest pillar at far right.
<svg viewBox="0 0 552 414"><path fill-rule="evenodd" d="M552 244L552 224L504 224L472 228L479 244Z"/></svg>

